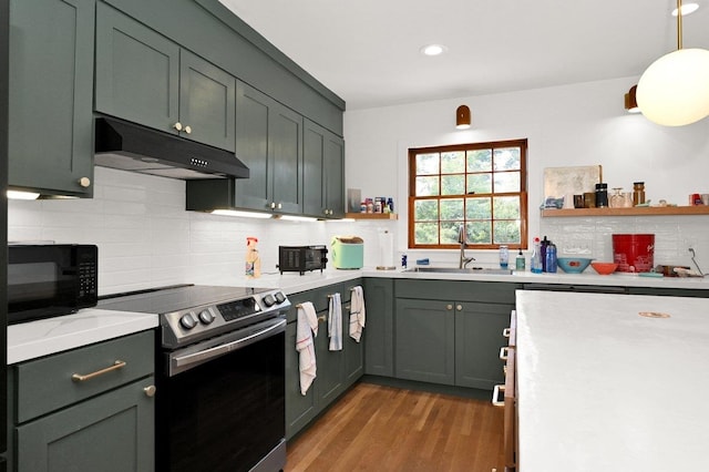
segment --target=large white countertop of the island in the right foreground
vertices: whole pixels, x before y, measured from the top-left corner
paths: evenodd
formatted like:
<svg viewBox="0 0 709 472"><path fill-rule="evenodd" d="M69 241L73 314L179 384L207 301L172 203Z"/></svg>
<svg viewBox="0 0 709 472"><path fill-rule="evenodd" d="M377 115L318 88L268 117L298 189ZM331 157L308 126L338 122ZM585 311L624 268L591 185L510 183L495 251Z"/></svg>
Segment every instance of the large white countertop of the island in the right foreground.
<svg viewBox="0 0 709 472"><path fill-rule="evenodd" d="M520 471L706 470L709 300L518 290L516 309Z"/></svg>

